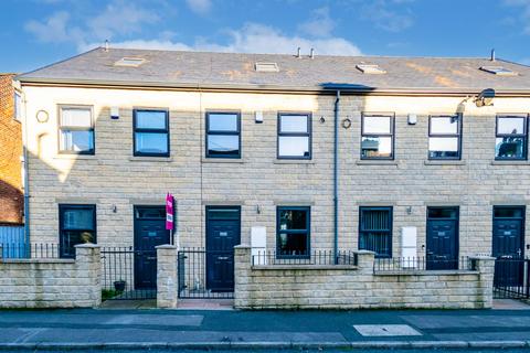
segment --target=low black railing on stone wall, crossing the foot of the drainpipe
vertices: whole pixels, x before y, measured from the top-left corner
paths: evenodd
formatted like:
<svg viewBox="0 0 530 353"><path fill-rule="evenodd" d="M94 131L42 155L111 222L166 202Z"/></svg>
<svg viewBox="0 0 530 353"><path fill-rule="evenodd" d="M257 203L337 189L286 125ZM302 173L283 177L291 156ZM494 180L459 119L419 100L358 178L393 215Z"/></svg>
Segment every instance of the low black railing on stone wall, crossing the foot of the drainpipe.
<svg viewBox="0 0 530 353"><path fill-rule="evenodd" d="M257 252L252 256L253 266L267 265L357 265L352 250L312 250L307 255L285 256L274 250Z"/></svg>

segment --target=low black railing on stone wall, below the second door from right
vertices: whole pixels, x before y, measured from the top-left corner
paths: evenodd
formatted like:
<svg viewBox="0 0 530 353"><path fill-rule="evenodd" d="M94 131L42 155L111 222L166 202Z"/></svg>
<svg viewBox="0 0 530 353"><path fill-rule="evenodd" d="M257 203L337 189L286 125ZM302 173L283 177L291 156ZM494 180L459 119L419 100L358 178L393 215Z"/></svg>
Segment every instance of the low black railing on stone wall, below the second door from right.
<svg viewBox="0 0 530 353"><path fill-rule="evenodd" d="M409 272L415 270L471 270L469 257L432 258L432 257L392 257L375 258L374 272Z"/></svg>

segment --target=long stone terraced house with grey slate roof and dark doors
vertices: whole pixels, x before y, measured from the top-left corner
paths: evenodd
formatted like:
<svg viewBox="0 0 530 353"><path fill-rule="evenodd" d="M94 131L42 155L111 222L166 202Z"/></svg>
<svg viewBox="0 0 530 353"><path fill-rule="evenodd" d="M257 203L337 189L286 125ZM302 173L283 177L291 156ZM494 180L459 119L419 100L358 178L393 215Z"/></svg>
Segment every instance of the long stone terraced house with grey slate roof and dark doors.
<svg viewBox="0 0 530 353"><path fill-rule="evenodd" d="M174 243L206 252L190 286L210 291L233 288L240 243L427 269L530 248L524 65L98 47L17 79L30 242L62 257L170 243L168 193ZM146 254L138 288L156 282Z"/></svg>

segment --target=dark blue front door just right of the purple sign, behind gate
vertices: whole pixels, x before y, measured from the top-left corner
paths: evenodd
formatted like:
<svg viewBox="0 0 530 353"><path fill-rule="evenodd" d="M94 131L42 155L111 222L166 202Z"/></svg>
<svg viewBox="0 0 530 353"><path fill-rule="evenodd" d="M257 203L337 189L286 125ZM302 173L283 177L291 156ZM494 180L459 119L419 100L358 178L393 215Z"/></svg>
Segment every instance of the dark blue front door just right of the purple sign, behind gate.
<svg viewBox="0 0 530 353"><path fill-rule="evenodd" d="M206 207L206 288L234 290L234 246L241 240L239 206Z"/></svg>

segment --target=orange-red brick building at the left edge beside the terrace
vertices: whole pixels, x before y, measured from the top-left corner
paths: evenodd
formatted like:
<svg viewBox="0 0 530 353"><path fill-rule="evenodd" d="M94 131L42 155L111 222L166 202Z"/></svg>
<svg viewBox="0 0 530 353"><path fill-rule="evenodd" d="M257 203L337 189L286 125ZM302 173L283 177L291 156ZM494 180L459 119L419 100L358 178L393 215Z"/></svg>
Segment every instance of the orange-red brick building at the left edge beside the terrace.
<svg viewBox="0 0 530 353"><path fill-rule="evenodd" d="M22 128L14 119L13 74L0 74L0 225L23 223Z"/></svg>

